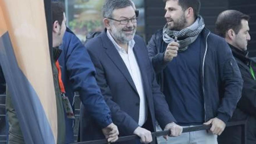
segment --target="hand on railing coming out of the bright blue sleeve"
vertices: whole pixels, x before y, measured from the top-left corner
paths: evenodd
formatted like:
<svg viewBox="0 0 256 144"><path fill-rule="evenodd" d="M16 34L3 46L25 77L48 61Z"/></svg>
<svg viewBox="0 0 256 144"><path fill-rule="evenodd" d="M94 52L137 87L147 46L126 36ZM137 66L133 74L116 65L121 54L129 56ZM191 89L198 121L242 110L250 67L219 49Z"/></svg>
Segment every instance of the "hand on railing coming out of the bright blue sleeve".
<svg viewBox="0 0 256 144"><path fill-rule="evenodd" d="M109 142L114 143L115 141L118 140L119 131L118 131L117 126L114 125L113 123L111 123L107 127L103 128L102 133L106 137L108 143Z"/></svg>

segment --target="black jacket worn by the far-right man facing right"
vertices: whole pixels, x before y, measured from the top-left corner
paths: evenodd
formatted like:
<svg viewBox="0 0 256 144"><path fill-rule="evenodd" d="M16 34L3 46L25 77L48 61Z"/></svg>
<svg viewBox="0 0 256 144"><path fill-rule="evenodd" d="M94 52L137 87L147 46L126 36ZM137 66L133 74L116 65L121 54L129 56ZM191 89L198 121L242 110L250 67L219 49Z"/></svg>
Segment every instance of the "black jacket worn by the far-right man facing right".
<svg viewBox="0 0 256 144"><path fill-rule="evenodd" d="M242 97L237 104L231 121L247 121L247 144L256 143L256 81L250 65L255 65L253 59L247 58L248 52L241 51L230 45L243 78ZM256 72L256 71L255 71ZM241 144L241 127L227 127L218 137L219 144Z"/></svg>

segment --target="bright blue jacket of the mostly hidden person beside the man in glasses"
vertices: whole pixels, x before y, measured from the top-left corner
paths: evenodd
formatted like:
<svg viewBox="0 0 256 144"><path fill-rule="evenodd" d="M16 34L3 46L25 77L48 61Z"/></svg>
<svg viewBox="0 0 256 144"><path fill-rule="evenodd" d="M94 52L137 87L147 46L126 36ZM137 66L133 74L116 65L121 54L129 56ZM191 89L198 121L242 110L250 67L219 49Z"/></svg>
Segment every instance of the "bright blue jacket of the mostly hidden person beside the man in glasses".
<svg viewBox="0 0 256 144"><path fill-rule="evenodd" d="M61 65L62 81L66 96L74 105L74 92L79 92L81 102L86 107L88 115L100 128L112 123L111 112L103 99L95 80L95 68L87 50L69 29L64 34L62 53L58 58ZM74 142L73 120L66 118L66 142Z"/></svg>

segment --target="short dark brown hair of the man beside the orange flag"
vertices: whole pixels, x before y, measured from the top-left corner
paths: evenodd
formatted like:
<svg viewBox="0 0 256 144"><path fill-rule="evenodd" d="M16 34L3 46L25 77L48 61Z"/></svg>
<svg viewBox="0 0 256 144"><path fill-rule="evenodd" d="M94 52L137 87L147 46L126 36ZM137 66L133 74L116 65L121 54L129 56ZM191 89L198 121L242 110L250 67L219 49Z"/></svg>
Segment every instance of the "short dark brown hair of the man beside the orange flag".
<svg viewBox="0 0 256 144"><path fill-rule="evenodd" d="M52 15L52 24L55 21L58 21L58 23L62 24L62 21L64 19L63 13L65 12L64 5L62 2L59 1L52 1L51 2L51 15Z"/></svg>

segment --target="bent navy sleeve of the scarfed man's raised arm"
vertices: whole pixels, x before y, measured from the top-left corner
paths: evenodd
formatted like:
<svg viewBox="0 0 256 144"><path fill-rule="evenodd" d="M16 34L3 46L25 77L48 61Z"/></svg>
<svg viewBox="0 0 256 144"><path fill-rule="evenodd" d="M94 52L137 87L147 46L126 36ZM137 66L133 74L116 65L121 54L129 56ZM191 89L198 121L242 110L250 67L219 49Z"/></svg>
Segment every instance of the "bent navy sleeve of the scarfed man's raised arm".
<svg viewBox="0 0 256 144"><path fill-rule="evenodd" d="M162 72L168 64L168 62L163 61L164 52L159 52L160 46L157 45L158 40L156 33L152 35L147 45L148 56L150 57L150 61L156 74Z"/></svg>

